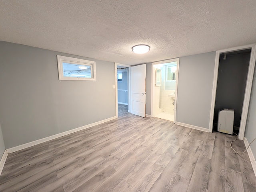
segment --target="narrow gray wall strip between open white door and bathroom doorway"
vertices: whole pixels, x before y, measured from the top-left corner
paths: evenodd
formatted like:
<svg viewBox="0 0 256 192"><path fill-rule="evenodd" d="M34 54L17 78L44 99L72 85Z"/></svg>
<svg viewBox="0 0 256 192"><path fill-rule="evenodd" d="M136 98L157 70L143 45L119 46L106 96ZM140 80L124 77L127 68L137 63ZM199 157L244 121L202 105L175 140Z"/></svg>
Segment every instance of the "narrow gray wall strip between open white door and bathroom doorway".
<svg viewBox="0 0 256 192"><path fill-rule="evenodd" d="M152 63L146 64L146 114L151 115L151 71Z"/></svg>

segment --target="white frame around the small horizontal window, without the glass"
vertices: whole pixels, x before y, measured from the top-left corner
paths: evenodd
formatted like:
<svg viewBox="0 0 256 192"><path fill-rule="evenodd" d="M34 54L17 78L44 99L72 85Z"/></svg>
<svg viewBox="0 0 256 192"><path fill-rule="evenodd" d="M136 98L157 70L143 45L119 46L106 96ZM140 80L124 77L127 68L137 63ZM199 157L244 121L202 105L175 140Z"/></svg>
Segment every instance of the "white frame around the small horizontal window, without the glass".
<svg viewBox="0 0 256 192"><path fill-rule="evenodd" d="M57 55L58 60L58 72L59 72L59 80L82 80L82 81L96 81L96 62L95 61L88 61L85 59L78 59L74 57L66 57L62 55ZM74 63L78 65L85 65L91 67L91 78L81 78L81 77L68 77L63 76L63 65L62 63Z"/></svg>

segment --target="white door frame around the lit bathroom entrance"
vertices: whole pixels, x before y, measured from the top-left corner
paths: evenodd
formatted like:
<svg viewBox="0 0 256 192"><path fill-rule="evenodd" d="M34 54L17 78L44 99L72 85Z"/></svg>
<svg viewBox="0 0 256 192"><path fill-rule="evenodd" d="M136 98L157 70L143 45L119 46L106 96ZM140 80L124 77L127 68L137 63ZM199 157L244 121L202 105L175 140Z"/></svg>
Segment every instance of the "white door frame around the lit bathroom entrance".
<svg viewBox="0 0 256 192"><path fill-rule="evenodd" d="M170 63L170 62L175 62L175 61L177 62L177 73L176 73L175 102L174 102L174 120L173 120L174 123L176 123L176 109L177 109L177 98L178 98L177 95L178 95L178 79L179 79L180 58L168 59L168 60L154 62L154 63L152 63L152 68L151 68L151 117L153 118L155 116L155 110L154 110L155 69L154 69L154 65Z"/></svg>

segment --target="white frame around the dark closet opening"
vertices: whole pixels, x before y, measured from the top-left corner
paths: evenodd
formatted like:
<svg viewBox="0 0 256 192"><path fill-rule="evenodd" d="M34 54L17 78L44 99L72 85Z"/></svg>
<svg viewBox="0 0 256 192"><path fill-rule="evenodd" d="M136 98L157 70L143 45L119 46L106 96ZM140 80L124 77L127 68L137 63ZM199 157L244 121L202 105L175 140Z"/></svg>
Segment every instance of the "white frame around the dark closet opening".
<svg viewBox="0 0 256 192"><path fill-rule="evenodd" d="M216 51L214 79L213 79L213 87L212 87L212 104L211 104L210 122L209 122L209 132L212 133L220 54L244 50L244 49L251 49L251 55L250 55L248 73L247 73L246 88L245 88L245 92L244 92L244 102L243 102L243 107L242 107L242 116L241 116L241 122L240 122L239 134L238 134L238 138L240 140L244 139L244 132L245 132L245 127L246 127L249 103L250 103L252 80L253 80L254 67L255 67L255 61L256 61L256 44L255 43L250 44L250 45L244 45L244 46L240 46L240 47L233 47L233 48L229 48L229 49L222 49L222 50Z"/></svg>

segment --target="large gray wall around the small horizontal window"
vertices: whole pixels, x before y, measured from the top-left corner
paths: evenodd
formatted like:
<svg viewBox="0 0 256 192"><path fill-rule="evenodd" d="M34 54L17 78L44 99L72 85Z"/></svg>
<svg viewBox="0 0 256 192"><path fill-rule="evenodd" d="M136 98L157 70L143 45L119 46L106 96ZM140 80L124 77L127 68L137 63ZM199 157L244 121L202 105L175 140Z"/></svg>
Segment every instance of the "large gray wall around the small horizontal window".
<svg viewBox="0 0 256 192"><path fill-rule="evenodd" d="M6 149L116 116L114 63L96 61L97 81L58 80L57 56L0 41L0 121Z"/></svg>

